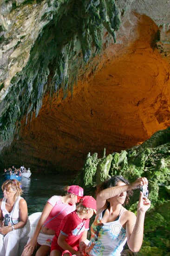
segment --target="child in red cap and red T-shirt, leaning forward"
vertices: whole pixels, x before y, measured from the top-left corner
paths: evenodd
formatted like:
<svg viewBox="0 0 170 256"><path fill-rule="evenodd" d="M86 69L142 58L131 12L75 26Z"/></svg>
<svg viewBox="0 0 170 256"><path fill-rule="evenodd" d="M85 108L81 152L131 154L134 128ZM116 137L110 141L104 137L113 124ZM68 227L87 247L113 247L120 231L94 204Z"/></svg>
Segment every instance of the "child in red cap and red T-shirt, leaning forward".
<svg viewBox="0 0 170 256"><path fill-rule="evenodd" d="M52 240L50 256L83 255L89 221L96 209L96 200L92 196L84 196L76 210L62 220Z"/></svg>

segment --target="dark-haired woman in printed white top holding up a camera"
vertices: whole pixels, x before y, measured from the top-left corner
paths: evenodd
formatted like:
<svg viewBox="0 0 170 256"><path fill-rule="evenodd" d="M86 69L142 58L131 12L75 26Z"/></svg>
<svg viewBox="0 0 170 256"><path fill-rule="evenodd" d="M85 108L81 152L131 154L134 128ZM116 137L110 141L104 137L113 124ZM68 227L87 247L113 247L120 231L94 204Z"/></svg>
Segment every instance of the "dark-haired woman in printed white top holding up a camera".
<svg viewBox="0 0 170 256"><path fill-rule="evenodd" d="M91 227L91 240L85 256L120 256L127 241L129 249L139 251L143 242L144 216L150 200L140 192L137 216L124 208L133 189L147 186L146 178L129 183L122 176L103 182L97 191L97 216Z"/></svg>

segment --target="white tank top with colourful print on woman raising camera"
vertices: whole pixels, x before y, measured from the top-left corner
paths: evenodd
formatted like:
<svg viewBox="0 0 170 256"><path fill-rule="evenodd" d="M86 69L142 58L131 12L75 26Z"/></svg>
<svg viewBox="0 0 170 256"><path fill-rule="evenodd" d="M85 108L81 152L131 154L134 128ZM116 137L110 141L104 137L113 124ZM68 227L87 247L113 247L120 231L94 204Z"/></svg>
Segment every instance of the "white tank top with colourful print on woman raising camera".
<svg viewBox="0 0 170 256"><path fill-rule="evenodd" d="M117 220L107 223L102 222L102 213L92 223L91 240L85 252L89 256L120 256L127 240L126 230L119 221L122 213Z"/></svg>

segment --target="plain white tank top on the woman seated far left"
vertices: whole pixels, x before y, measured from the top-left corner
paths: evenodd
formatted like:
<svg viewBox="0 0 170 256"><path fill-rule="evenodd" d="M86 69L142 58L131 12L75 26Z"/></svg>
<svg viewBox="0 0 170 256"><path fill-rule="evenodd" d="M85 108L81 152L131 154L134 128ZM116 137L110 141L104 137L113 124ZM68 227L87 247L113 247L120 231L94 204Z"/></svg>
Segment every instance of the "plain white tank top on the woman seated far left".
<svg viewBox="0 0 170 256"><path fill-rule="evenodd" d="M2 210L2 214L3 217L5 217L6 214L8 214L10 216L10 222L11 225L13 224L17 224L18 222L20 222L20 209L19 209L19 201L22 197L18 196L14 205L13 205L13 210L9 213L5 207L7 198L3 198L2 199L2 203L1 203L1 210Z"/></svg>

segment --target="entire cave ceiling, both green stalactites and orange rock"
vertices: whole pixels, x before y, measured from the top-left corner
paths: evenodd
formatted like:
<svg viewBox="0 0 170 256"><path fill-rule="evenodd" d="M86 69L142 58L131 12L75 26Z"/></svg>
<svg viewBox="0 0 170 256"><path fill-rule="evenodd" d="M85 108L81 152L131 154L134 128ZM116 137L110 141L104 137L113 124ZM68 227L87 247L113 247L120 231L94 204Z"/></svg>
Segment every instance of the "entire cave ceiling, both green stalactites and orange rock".
<svg viewBox="0 0 170 256"><path fill-rule="evenodd" d="M168 1L4 1L0 166L77 170L170 126Z"/></svg>

